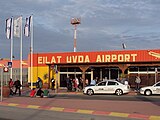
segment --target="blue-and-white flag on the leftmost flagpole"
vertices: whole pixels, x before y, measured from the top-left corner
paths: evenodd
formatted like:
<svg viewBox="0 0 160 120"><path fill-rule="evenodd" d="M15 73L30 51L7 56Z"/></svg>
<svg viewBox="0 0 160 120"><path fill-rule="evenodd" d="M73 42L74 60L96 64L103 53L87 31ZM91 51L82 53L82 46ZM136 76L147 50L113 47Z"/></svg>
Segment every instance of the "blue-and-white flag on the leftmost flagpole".
<svg viewBox="0 0 160 120"><path fill-rule="evenodd" d="M6 20L6 36L7 39L11 39L12 34L12 18L8 18Z"/></svg>

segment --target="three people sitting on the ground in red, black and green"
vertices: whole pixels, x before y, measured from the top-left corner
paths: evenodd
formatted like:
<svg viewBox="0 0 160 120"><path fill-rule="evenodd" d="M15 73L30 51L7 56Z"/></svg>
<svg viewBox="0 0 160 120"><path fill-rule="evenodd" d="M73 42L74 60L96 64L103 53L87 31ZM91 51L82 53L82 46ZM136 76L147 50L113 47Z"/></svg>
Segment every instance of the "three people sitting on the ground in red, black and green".
<svg viewBox="0 0 160 120"><path fill-rule="evenodd" d="M36 88L33 88L30 92L30 97L48 97L49 96L49 90L46 88L42 90L42 88L39 88L36 90Z"/></svg>

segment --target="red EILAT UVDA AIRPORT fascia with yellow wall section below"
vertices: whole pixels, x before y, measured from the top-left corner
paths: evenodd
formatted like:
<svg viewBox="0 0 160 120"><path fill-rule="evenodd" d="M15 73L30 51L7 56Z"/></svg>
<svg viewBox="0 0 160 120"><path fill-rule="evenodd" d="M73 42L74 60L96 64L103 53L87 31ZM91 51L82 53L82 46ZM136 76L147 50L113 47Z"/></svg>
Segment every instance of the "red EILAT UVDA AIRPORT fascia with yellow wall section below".
<svg viewBox="0 0 160 120"><path fill-rule="evenodd" d="M28 81L36 82L37 78L42 78L43 82L48 82L49 68L48 65L72 65L77 67L79 65L94 66L99 65L114 65L121 70L127 69L131 64L145 64L152 66L152 63L156 63L156 66L160 66L160 49L155 50L120 50L120 51L95 51L95 52L62 52L62 53L34 53L33 54L33 80L30 77L30 67L28 69ZM89 66L90 65L90 66ZM125 66L126 67L125 67ZM109 66L110 67L110 66ZM53 69L53 68L51 68ZM122 71L122 72L123 72ZM53 70L50 72L50 77L54 76L60 81L60 75L55 74ZM143 77L146 79L148 77ZM132 76L130 77L132 80ZM133 78L134 79L134 78ZM133 80L132 80L133 81ZM133 82L132 82L133 83ZM143 81L146 83L146 81ZM133 83L134 84L134 83ZM150 83L149 83L150 84Z"/></svg>

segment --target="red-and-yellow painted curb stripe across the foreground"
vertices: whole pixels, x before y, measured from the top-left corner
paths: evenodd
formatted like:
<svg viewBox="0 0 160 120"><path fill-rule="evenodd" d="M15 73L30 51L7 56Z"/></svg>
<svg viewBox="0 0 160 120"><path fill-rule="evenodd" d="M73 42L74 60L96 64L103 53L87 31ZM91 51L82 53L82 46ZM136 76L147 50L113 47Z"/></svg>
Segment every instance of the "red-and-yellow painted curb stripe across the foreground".
<svg viewBox="0 0 160 120"><path fill-rule="evenodd" d="M153 115L129 114L129 113L120 113L120 112L108 112L108 111L94 111L94 110L85 110L85 109L70 109L70 108L53 107L53 106L52 107L38 106L38 105L28 105L28 104L7 103L7 102L0 102L0 106L10 106L10 107L17 107L17 108L29 108L29 109L48 110L48 111L56 111L56 112L100 115L100 116L111 116L111 117L122 117L122 118L134 118L134 119L142 119L142 120L160 120L160 116L153 116Z"/></svg>

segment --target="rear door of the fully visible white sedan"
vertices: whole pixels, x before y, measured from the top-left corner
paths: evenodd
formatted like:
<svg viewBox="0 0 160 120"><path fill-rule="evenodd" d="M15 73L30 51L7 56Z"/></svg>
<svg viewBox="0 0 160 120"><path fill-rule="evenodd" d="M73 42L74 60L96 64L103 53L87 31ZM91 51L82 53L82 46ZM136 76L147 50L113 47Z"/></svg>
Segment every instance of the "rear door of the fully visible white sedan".
<svg viewBox="0 0 160 120"><path fill-rule="evenodd" d="M106 84L106 93L115 93L118 83L116 81L108 81Z"/></svg>

